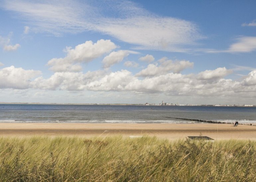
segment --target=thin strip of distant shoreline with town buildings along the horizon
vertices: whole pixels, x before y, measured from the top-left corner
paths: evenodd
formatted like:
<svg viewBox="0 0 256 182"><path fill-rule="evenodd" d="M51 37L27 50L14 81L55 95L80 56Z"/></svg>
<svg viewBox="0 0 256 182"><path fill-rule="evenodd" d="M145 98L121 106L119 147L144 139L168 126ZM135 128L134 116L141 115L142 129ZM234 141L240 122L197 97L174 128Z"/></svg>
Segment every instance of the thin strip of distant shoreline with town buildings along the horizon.
<svg viewBox="0 0 256 182"><path fill-rule="evenodd" d="M149 105L149 104L92 104L92 103L27 103L27 102L0 102L0 104L30 104L30 105L114 105L114 106L203 106L203 107L256 107L256 105Z"/></svg>

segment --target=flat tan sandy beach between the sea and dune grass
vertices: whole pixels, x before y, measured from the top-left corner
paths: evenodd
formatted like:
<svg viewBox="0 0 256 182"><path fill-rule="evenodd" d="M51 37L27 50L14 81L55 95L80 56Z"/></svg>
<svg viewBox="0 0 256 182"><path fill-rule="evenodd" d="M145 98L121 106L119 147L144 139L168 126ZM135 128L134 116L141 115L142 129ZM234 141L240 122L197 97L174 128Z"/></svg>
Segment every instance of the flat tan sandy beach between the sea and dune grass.
<svg viewBox="0 0 256 182"><path fill-rule="evenodd" d="M176 123L0 123L0 136L157 136L184 139L188 136L208 136L217 139L256 140L256 127L231 124Z"/></svg>

